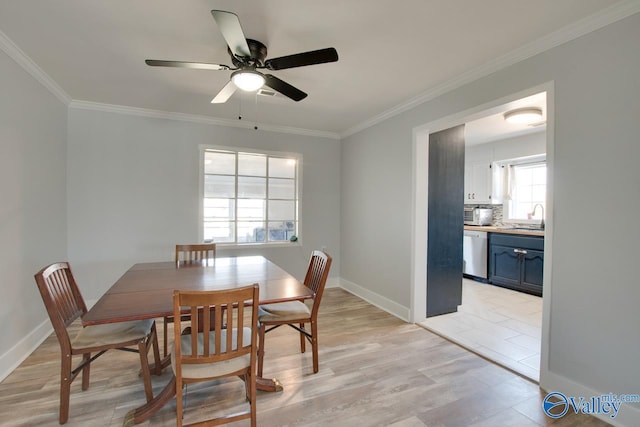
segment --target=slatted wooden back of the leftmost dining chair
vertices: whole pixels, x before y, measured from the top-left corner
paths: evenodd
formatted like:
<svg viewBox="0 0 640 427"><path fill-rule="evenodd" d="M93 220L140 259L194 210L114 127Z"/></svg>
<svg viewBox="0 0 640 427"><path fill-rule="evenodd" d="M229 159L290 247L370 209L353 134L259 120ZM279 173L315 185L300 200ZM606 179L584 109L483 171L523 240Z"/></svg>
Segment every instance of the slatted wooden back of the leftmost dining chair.
<svg viewBox="0 0 640 427"><path fill-rule="evenodd" d="M36 273L35 279L60 346L70 352L67 327L87 312L71 267L66 262L51 264Z"/></svg>

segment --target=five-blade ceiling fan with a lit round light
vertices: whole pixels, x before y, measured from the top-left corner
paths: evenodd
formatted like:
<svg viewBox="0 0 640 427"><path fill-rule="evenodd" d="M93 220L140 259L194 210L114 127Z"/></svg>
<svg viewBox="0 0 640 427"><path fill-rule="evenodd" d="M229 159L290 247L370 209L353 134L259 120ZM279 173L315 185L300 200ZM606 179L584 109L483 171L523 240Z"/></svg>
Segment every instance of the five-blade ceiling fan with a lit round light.
<svg viewBox="0 0 640 427"><path fill-rule="evenodd" d="M222 37L227 42L227 51L233 66L157 59L147 59L145 62L154 67L233 71L229 82L211 101L214 104L226 102L238 88L245 91L255 91L262 86L268 86L294 101L300 101L307 97L306 93L271 74L265 74L258 70L284 70L338 60L338 52L332 47L265 60L267 47L257 40L244 36L238 15L223 10L212 10L211 14L218 24Z"/></svg>

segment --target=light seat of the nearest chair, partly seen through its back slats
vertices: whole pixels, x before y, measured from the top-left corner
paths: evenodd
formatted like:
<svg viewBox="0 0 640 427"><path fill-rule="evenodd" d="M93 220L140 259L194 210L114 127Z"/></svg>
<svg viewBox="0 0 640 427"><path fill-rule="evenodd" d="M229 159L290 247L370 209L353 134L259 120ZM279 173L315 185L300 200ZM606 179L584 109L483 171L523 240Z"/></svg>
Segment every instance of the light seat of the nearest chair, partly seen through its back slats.
<svg viewBox="0 0 640 427"><path fill-rule="evenodd" d="M236 328L232 329L233 338L231 348L235 350L238 348L238 343L236 341ZM251 344L251 328L242 328L242 345L247 346ZM215 353L215 332L209 333L210 345L209 349L210 353ZM222 330L220 340L225 342L227 339L227 331ZM191 335L182 335L181 336L181 346L182 346L182 355L189 356L191 355ZM175 347L174 347L175 348ZM198 354L202 354L204 352L204 336L202 332L198 334ZM173 352L175 354L175 350ZM251 354L246 354L242 357L236 357L229 360L223 360L220 362L213 363L197 363L197 364L188 364L182 362L182 377L183 378L211 378L211 377L219 377L231 374L233 372L237 372L241 369L245 369L246 367L251 366ZM176 362L175 357L171 358L171 368L175 374L176 372Z"/></svg>

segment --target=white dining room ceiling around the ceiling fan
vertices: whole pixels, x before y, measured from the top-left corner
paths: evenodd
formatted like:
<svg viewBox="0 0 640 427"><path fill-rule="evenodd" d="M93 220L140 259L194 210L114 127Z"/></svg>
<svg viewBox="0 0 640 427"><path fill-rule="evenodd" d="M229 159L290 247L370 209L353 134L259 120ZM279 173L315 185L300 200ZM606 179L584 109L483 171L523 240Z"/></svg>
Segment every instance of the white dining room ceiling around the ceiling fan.
<svg viewBox="0 0 640 427"><path fill-rule="evenodd" d="M0 47L26 55L74 102L229 121L241 115L243 122L348 135L509 58L522 59L620 19L629 3L3 0ZM228 64L211 9L236 13L245 35L267 45L268 58L335 47L340 59L272 72L309 94L301 102L236 92L226 104L212 105L230 71L144 63Z"/></svg>

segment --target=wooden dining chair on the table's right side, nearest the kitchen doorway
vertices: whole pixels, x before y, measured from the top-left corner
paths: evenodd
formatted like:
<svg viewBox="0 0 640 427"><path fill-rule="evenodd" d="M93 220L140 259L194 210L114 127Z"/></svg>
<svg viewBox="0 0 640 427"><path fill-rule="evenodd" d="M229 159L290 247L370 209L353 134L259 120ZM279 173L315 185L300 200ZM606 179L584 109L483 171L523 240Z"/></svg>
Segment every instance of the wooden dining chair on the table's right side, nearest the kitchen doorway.
<svg viewBox="0 0 640 427"><path fill-rule="evenodd" d="M313 372L317 373L318 363L318 308L331 268L331 256L323 251L313 251L304 284L313 291L310 304L289 301L261 305L258 310L258 376L262 376L265 334L282 325L289 325L300 332L300 351L305 352L305 340L311 343L313 352ZM305 327L310 325L310 329Z"/></svg>

